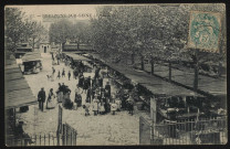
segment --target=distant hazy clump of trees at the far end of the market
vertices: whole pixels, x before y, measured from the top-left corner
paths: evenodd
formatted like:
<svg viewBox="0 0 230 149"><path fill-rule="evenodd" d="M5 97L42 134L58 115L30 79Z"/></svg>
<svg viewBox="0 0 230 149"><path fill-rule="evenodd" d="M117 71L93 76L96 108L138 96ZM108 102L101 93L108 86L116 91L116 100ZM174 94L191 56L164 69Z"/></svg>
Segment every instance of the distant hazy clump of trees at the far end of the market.
<svg viewBox="0 0 230 149"><path fill-rule="evenodd" d="M67 40L77 43L90 42L90 25L84 22L73 23L69 20L60 20L54 22L50 26L50 42L59 43L62 49Z"/></svg>

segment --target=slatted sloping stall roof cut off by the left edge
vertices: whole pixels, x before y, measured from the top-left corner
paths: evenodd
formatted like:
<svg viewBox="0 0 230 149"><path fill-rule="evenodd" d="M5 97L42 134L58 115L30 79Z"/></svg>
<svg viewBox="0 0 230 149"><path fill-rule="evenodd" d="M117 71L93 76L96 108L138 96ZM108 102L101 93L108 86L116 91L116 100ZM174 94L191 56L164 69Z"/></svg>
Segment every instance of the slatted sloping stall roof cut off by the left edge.
<svg viewBox="0 0 230 149"><path fill-rule="evenodd" d="M13 55L6 55L4 65L6 109L36 104L30 86L24 79Z"/></svg>

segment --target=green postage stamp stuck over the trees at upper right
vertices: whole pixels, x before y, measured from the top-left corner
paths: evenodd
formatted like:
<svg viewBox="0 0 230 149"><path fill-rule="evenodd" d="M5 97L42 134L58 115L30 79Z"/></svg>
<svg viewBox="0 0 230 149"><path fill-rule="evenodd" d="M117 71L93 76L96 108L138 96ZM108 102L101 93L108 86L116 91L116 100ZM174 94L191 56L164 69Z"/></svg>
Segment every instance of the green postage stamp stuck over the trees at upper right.
<svg viewBox="0 0 230 149"><path fill-rule="evenodd" d="M219 13L191 11L188 47L219 52L220 29Z"/></svg>

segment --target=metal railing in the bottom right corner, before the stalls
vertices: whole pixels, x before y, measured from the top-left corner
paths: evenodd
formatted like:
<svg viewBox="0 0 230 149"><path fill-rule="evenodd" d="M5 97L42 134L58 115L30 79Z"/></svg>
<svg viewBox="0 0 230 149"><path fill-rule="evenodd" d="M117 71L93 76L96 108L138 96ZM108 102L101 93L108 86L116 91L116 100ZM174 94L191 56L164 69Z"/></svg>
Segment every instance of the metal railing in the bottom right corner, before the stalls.
<svg viewBox="0 0 230 149"><path fill-rule="evenodd" d="M226 117L167 121L153 130L155 145L224 145L228 140Z"/></svg>

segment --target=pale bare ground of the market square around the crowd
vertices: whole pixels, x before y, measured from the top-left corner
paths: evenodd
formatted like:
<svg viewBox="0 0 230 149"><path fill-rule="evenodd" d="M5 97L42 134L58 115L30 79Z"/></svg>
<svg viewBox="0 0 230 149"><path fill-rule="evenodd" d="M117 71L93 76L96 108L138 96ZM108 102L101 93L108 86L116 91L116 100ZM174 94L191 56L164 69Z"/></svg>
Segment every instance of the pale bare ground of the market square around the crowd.
<svg viewBox="0 0 230 149"><path fill-rule="evenodd" d="M64 83L67 85L72 93L71 99L74 100L74 91L77 84L77 79L73 76L71 81L67 79L67 75L63 78L58 79L58 71L65 68L65 74L72 70L65 66L64 63L61 65L54 65L55 76L54 82L48 79L46 75L52 73L51 55L42 53L43 71L39 74L24 75L28 81L32 93L38 96L41 87L44 87L46 96L50 88L54 92L58 89L58 83ZM84 73L84 76L91 75L93 73ZM107 82L105 79L105 82ZM104 83L105 84L105 83ZM112 86L112 92L114 87ZM85 103L85 94L83 96L83 104ZM44 104L45 105L45 104ZM33 134L48 134L55 132L58 128L58 103L54 109L44 109L44 111L39 110L39 105L32 105L29 107L29 111L19 113L17 117L19 120L25 123L24 131L29 135ZM63 110L63 123L67 123L73 128L77 130L77 145L138 145L139 143L139 111L135 110L134 115L130 116L127 111L118 111L116 115L98 115L84 116L84 109L82 107L77 110Z"/></svg>

